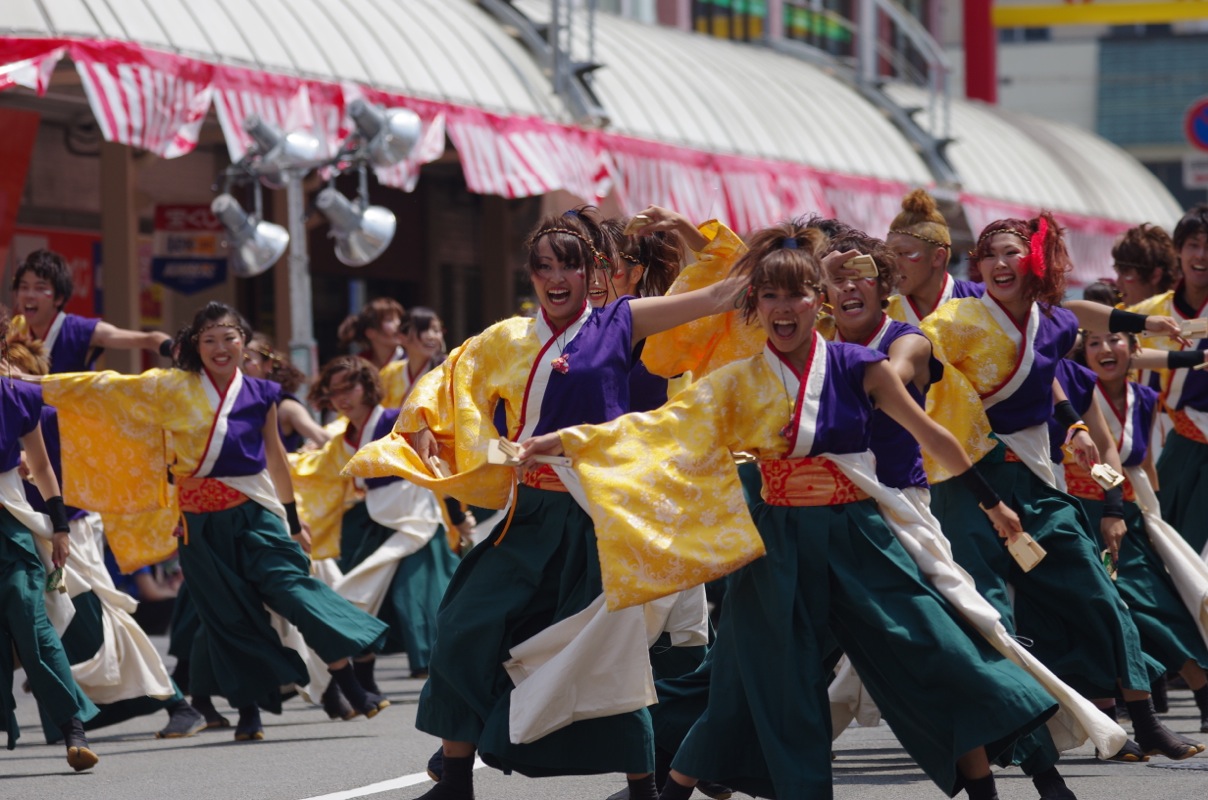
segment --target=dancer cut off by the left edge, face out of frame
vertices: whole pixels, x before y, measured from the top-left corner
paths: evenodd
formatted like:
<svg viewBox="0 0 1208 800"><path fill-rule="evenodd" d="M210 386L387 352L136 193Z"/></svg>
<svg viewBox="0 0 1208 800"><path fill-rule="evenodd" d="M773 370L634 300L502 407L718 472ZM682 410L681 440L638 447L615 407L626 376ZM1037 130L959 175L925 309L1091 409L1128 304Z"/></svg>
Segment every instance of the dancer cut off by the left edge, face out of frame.
<svg viewBox="0 0 1208 800"><path fill-rule="evenodd" d="M8 313L0 306L0 344L6 342L7 332ZM6 352L0 352L0 369L12 369ZM58 592L48 581L43 560L50 562L50 578L62 580L71 544L66 506L42 444L41 408L37 387L7 375L0 377L0 721L11 750L21 736L12 696L16 655L34 697L63 734L68 764L79 772L99 760L83 732L83 723L97 714L97 707L71 677L66 654L47 616L46 595ZM46 498L50 524L25 502L17 474L22 448L30 476ZM60 610L70 613L63 607Z"/></svg>

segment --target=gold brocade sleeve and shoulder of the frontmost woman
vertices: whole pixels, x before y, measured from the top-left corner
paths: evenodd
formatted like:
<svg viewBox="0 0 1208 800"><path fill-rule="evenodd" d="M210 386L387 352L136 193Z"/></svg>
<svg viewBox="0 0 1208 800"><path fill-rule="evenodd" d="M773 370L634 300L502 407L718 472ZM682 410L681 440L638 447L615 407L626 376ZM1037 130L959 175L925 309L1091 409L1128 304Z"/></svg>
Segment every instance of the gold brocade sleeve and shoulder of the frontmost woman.
<svg viewBox="0 0 1208 800"><path fill-rule="evenodd" d="M756 355L655 411L562 431L596 523L609 609L714 580L765 553L733 453L783 458L789 417L784 384Z"/></svg>

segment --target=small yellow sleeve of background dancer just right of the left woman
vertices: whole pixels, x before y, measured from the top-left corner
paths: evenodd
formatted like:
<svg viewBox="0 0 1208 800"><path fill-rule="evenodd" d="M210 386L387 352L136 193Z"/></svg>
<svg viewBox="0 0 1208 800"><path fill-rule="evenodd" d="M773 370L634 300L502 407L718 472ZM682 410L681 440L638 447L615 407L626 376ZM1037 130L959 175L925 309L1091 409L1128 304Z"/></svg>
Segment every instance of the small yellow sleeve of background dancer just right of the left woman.
<svg viewBox="0 0 1208 800"><path fill-rule="evenodd" d="M356 487L341 475L349 453L343 436L319 450L290 453L290 476L298 517L310 526L310 557L339 557L339 526L344 511L356 504Z"/></svg>

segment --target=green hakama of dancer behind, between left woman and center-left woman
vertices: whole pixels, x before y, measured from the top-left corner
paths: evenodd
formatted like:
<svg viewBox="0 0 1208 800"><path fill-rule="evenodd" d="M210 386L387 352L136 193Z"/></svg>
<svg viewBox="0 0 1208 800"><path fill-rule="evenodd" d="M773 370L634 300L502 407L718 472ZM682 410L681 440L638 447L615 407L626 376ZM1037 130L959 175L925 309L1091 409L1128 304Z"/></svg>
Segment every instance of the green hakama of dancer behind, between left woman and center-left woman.
<svg viewBox="0 0 1208 800"><path fill-rule="evenodd" d="M370 518L365 503L344 512L339 526L339 569L350 572L395 534ZM459 558L449 550L445 527L399 562L378 619L390 626L383 654L406 653L412 672L426 671L436 638L436 613Z"/></svg>

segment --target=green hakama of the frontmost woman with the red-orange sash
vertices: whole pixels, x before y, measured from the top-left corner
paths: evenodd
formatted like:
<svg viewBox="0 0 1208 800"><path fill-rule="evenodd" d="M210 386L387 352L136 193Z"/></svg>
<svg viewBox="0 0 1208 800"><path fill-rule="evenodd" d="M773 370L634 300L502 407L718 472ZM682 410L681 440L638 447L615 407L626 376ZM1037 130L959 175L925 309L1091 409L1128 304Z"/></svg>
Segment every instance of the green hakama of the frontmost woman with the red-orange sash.
<svg viewBox="0 0 1208 800"><path fill-rule="evenodd" d="M757 505L767 556L734 573L710 650L708 708L674 769L785 800L832 796L835 644L885 721L948 795L957 759L1010 750L1057 711L927 581L872 500Z"/></svg>

